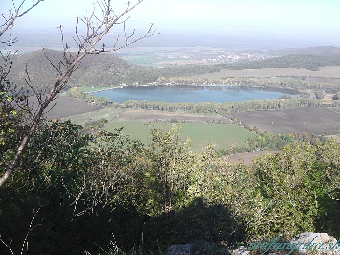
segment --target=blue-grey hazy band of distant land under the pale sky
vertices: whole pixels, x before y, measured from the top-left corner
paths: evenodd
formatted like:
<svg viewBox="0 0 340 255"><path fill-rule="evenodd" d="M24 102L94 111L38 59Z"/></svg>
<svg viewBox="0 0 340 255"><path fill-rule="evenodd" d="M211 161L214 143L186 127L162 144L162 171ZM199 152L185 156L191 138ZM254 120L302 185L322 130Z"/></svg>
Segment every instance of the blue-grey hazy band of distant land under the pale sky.
<svg viewBox="0 0 340 255"><path fill-rule="evenodd" d="M46 36L44 36L46 34ZM64 31L64 39L71 47L75 47L72 31ZM119 33L117 33L119 34ZM1 51L6 47L7 50L14 51L20 48L60 48L61 35L57 29L48 30L37 28L27 30L20 28L11 31L12 36L17 36L18 42L12 47L1 46ZM136 35L139 35L137 32ZM5 37L5 36L4 36ZM113 39L103 39L105 45L112 45ZM340 47L340 36L319 37L302 34L279 34L264 31L225 31L221 34L213 32L205 33L181 33L167 30L161 34L154 35L137 41L130 47L208 47L216 49L229 49L237 51L245 50L279 50L287 48L306 48L306 47Z"/></svg>

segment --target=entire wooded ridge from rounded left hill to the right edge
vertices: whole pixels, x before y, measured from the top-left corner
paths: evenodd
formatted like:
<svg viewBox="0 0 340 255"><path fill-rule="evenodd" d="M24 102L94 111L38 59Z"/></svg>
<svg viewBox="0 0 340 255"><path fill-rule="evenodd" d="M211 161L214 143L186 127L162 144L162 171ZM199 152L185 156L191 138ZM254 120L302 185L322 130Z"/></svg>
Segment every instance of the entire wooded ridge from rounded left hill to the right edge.
<svg viewBox="0 0 340 255"><path fill-rule="evenodd" d="M51 62L59 68L62 52L45 50ZM42 50L19 55L13 62L10 77L18 85L25 85L25 66L35 89L43 89L58 78L57 71L46 59ZM125 84L147 84L159 77L186 77L197 74L219 72L221 68L231 70L261 68L307 68L318 70L323 66L340 66L340 55L317 56L295 54L254 62L238 62L217 65L173 65L164 68L144 67L131 64L112 54L87 55L73 72L68 86L118 86ZM61 69L65 67L61 66Z"/></svg>

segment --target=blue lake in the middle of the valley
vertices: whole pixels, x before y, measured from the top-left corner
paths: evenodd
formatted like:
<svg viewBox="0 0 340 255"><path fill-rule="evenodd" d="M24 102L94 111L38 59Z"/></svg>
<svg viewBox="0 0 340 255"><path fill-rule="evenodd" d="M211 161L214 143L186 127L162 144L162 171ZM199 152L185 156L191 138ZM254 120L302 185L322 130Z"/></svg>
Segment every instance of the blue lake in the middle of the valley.
<svg viewBox="0 0 340 255"><path fill-rule="evenodd" d="M237 102L255 99L276 99L283 95L297 97L293 89L241 86L126 86L91 93L108 97L112 102L148 100L163 102Z"/></svg>

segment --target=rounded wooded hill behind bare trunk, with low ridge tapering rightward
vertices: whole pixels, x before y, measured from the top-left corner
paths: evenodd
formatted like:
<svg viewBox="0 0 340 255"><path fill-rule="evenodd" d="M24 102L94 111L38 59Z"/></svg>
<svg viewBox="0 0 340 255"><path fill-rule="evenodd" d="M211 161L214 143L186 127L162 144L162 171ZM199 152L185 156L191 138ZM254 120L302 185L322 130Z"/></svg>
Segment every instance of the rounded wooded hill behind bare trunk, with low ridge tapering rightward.
<svg viewBox="0 0 340 255"><path fill-rule="evenodd" d="M46 49L46 55L51 62L59 68L58 63L62 59L62 52ZM44 56L42 50L23 54L13 62L11 77L18 84L24 84L23 77L27 63L27 70L34 86L46 87L58 78L56 70ZM63 69L63 66L61 66ZM81 62L80 66L73 72L69 85L83 86L111 86L126 84L146 84L154 82L158 77L190 76L209 72L221 71L217 65L183 65L165 68L144 67L131 64L112 54L90 54Z"/></svg>

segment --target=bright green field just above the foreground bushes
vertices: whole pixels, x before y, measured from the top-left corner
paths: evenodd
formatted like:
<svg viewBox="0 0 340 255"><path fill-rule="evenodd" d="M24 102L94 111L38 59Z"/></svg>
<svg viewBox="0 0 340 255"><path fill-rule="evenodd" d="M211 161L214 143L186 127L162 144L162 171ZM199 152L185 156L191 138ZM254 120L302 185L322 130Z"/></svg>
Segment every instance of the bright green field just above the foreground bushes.
<svg viewBox="0 0 340 255"><path fill-rule="evenodd" d="M156 128L171 128L171 123L155 123ZM148 144L149 134L153 128L153 123L148 126L142 122L110 122L106 124L106 129L124 127L123 133L129 135L130 139L139 139L143 144ZM204 151L211 142L217 142L218 148L228 149L231 144L237 147L245 146L245 141L252 136L257 136L255 132L249 131L238 125L232 124L190 124L184 123L181 137L186 139L191 137L192 150L195 152Z"/></svg>

